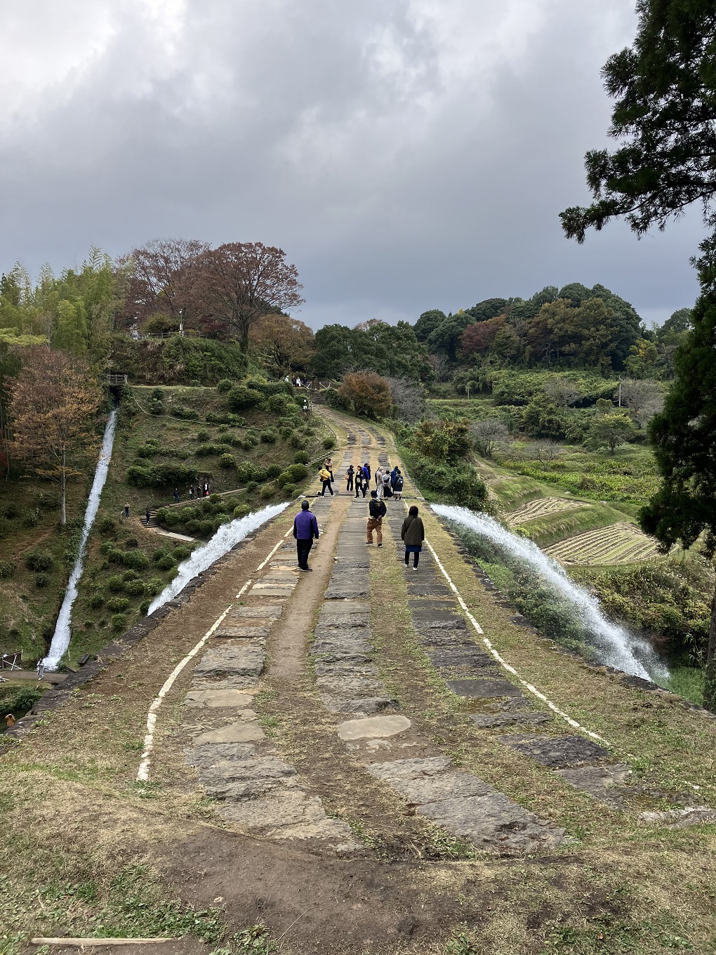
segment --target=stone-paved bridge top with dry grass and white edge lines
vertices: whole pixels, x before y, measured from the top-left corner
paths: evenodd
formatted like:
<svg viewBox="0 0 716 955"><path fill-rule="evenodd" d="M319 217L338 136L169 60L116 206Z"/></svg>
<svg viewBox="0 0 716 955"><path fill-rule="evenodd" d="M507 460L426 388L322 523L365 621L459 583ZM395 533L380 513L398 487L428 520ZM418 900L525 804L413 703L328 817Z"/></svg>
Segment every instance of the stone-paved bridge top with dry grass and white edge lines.
<svg viewBox="0 0 716 955"><path fill-rule="evenodd" d="M351 460L400 463L389 435L325 414L347 446L337 489ZM305 574L292 506L0 761L13 930L81 934L92 905L57 886L109 892L141 864L284 955L707 950L712 828L642 814L716 804L712 728L517 625L410 480L405 496L381 549L368 499L312 502Z"/></svg>

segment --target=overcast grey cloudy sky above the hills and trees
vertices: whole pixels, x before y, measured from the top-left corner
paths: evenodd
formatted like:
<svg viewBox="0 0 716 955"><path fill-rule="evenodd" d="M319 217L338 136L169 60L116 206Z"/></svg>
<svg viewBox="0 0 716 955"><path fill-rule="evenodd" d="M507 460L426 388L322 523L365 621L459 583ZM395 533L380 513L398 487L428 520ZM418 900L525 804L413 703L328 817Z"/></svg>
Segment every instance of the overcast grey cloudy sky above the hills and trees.
<svg viewBox="0 0 716 955"><path fill-rule="evenodd" d="M317 328L597 282L691 305L694 210L578 246L634 0L4 0L0 271L280 245Z"/></svg>

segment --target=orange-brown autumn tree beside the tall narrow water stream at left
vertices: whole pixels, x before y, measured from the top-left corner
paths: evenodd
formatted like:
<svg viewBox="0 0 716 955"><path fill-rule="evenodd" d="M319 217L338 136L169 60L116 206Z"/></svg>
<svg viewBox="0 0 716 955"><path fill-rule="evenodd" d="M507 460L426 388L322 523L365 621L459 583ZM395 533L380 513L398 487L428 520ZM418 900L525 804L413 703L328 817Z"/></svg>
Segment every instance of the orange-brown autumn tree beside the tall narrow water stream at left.
<svg viewBox="0 0 716 955"><path fill-rule="evenodd" d="M67 522L67 479L81 477L72 462L92 443L90 418L100 393L87 368L66 351L36 348L10 388L16 456L59 484L60 523Z"/></svg>

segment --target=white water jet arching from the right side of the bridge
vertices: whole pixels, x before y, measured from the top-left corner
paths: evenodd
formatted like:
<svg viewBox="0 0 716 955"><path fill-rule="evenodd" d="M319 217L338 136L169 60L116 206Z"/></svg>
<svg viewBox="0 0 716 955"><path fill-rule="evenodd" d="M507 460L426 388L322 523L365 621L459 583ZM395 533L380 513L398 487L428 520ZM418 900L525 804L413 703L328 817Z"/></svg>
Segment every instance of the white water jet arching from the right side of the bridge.
<svg viewBox="0 0 716 955"><path fill-rule="evenodd" d="M447 504L431 506L435 514L462 524L474 534L488 538L537 570L545 583L574 606L581 622L593 635L602 663L647 680L659 678L661 682L668 675L653 648L624 627L608 620L601 612L599 602L586 590L574 584L564 568L543 554L534 541L517 537L493 518L486 514L474 514L466 507Z"/></svg>

